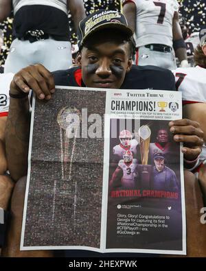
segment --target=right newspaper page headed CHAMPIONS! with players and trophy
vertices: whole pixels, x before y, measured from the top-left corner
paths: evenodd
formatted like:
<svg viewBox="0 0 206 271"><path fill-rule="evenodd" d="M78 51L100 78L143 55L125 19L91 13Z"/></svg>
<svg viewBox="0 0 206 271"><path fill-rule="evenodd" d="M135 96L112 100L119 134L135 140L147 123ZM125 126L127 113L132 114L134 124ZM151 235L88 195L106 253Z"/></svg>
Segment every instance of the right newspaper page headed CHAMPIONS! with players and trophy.
<svg viewBox="0 0 206 271"><path fill-rule="evenodd" d="M181 112L181 93L107 93L107 251L185 254L183 157L168 130Z"/></svg>

